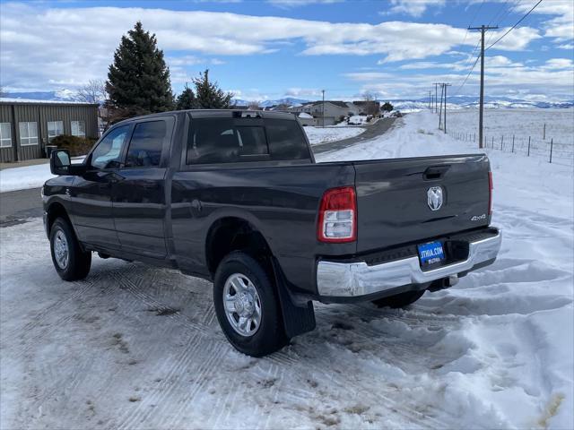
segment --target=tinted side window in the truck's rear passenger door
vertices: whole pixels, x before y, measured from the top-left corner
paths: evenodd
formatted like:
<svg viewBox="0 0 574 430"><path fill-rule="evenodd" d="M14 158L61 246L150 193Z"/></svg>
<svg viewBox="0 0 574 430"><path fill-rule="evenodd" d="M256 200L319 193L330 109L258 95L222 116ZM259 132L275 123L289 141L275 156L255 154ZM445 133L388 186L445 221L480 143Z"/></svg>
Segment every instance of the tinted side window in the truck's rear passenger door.
<svg viewBox="0 0 574 430"><path fill-rule="evenodd" d="M163 120L135 125L127 148L126 168L159 166L166 131L166 122Z"/></svg>

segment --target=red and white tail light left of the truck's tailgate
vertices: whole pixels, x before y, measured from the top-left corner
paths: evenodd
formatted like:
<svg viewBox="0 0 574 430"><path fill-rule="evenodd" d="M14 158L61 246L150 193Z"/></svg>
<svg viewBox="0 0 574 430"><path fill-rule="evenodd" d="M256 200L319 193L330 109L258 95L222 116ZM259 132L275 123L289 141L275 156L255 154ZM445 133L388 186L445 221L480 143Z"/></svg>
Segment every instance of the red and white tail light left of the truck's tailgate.
<svg viewBox="0 0 574 430"><path fill-rule="evenodd" d="M343 243L357 239L357 197L352 186L332 188L323 194L317 239Z"/></svg>

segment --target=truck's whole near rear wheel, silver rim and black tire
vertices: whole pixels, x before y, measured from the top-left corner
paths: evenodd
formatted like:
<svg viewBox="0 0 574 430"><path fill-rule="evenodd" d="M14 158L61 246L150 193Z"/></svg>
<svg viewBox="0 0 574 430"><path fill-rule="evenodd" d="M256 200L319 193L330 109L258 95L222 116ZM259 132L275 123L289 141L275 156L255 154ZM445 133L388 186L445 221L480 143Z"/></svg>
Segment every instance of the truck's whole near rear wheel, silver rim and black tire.
<svg viewBox="0 0 574 430"><path fill-rule="evenodd" d="M243 354L262 357L289 341L274 283L248 254L233 252L219 264L213 305L225 337Z"/></svg>

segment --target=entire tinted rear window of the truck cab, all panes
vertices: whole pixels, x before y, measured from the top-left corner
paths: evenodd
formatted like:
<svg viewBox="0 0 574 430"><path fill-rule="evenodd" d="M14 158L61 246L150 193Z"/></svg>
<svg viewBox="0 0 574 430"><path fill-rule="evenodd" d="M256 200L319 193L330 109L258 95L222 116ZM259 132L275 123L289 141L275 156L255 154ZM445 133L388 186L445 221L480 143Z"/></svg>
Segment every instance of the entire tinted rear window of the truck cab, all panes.
<svg viewBox="0 0 574 430"><path fill-rule="evenodd" d="M263 126L265 125L265 126ZM271 156L271 157L269 157ZM307 142L296 121L259 120L246 125L233 118L192 120L187 164L233 163L261 159L309 159Z"/></svg>

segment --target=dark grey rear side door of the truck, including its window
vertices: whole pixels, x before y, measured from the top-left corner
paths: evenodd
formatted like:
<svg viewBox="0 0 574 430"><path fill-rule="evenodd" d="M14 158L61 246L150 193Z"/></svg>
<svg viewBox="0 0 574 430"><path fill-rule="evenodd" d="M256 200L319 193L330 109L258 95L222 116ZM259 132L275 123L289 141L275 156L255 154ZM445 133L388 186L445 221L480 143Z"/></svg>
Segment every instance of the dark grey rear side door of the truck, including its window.
<svg viewBox="0 0 574 430"><path fill-rule="evenodd" d="M167 254L165 176L173 116L135 123L126 161L113 185L113 215L122 250L162 258Z"/></svg>

